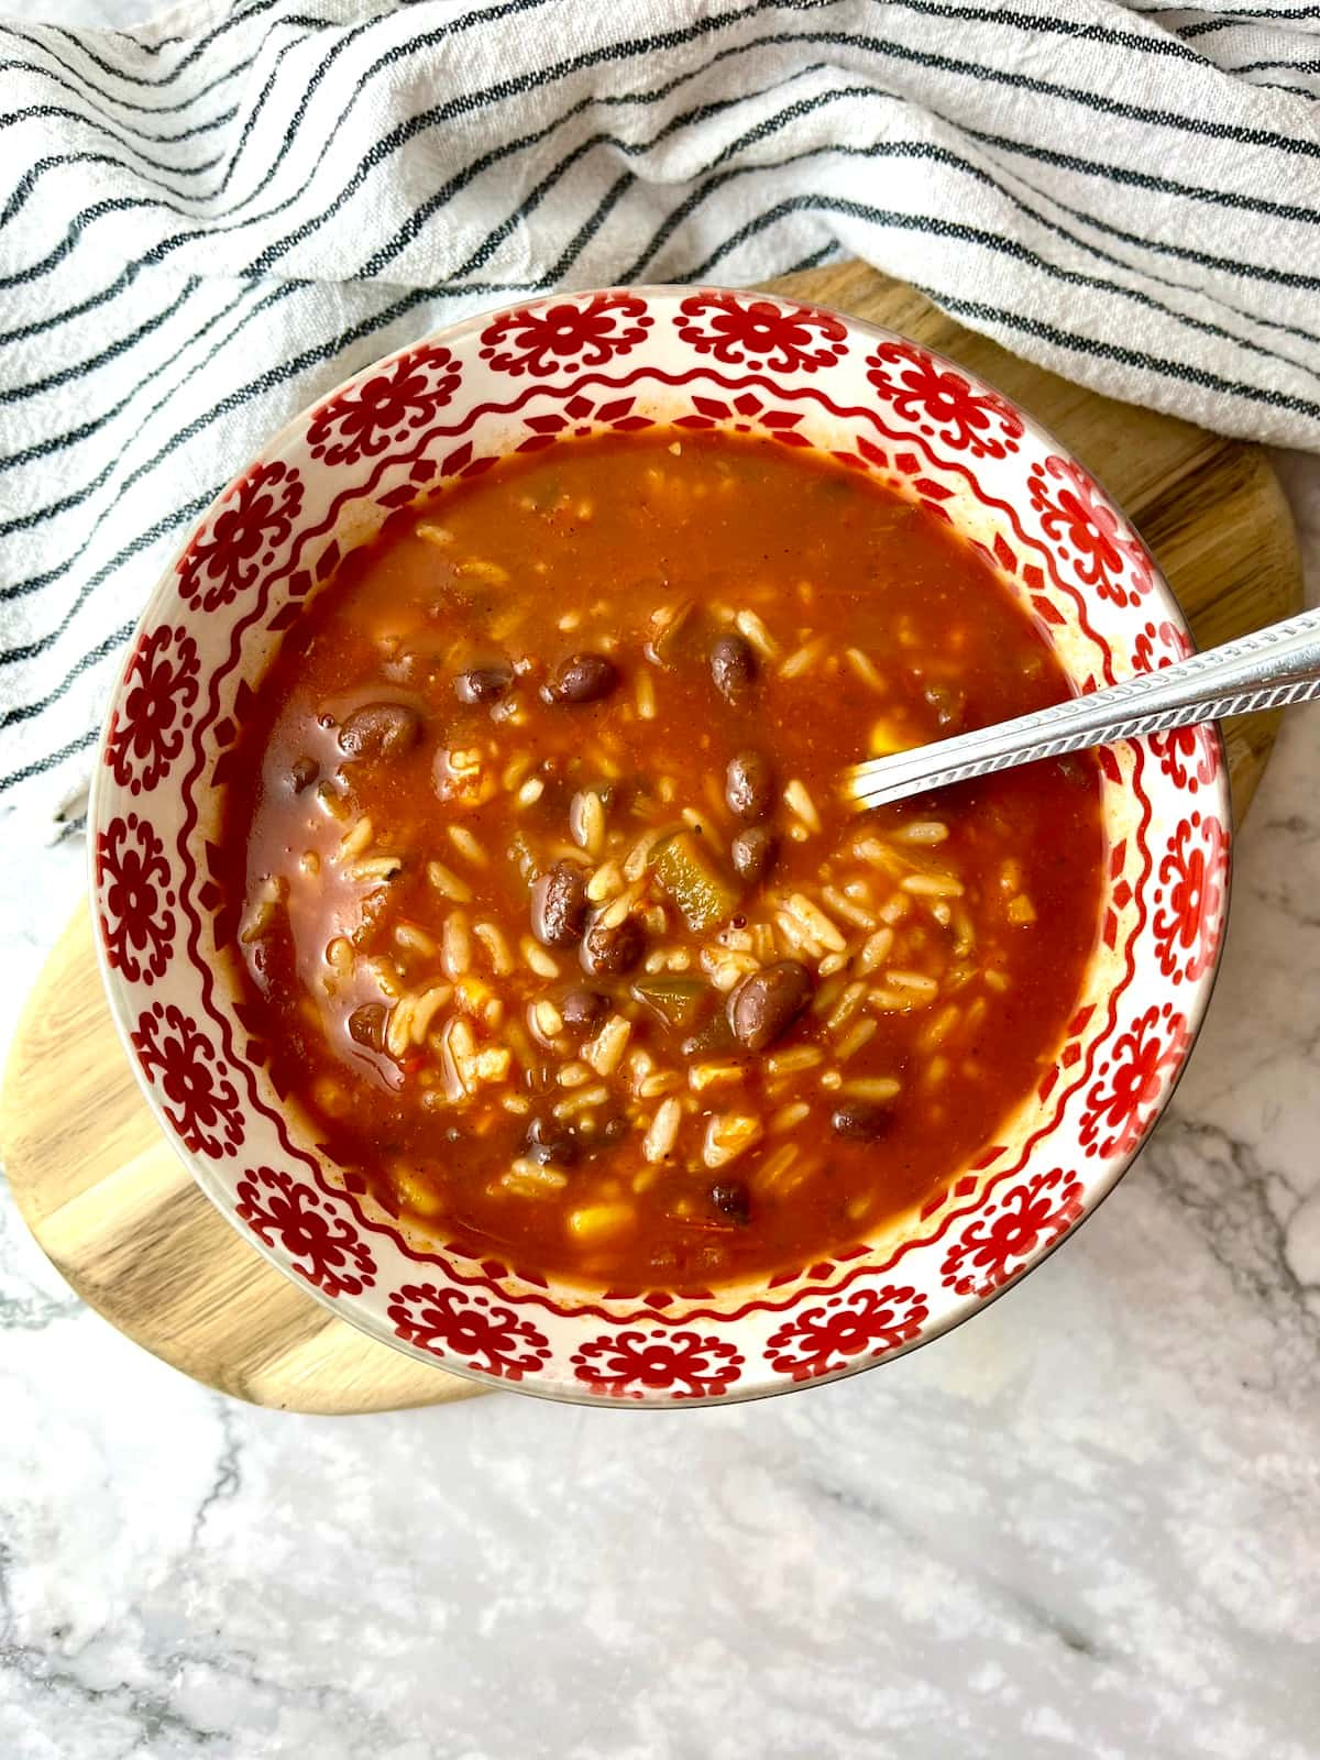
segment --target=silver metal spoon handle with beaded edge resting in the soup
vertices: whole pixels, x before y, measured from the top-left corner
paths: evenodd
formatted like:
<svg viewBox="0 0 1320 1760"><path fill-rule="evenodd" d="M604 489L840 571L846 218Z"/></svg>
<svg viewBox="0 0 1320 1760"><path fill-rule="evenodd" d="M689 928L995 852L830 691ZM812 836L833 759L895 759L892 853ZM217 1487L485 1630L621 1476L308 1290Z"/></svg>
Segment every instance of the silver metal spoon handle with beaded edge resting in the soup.
<svg viewBox="0 0 1320 1760"><path fill-rule="evenodd" d="M1195 727L1218 722L1223 715L1276 709L1311 697L1320 697L1320 611L1304 611L1236 642L1207 648L1158 672L1140 672L1084 697L1070 697L1051 709L854 764L843 773L843 794L857 811L864 811L1063 752L1162 734L1169 727Z"/></svg>

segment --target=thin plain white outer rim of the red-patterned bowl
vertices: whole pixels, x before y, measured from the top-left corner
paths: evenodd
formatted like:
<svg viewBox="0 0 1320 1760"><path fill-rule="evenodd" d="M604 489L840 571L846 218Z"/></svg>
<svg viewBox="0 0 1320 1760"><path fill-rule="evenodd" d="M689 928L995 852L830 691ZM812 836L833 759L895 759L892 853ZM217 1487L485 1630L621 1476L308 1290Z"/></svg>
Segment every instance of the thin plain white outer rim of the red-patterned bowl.
<svg viewBox="0 0 1320 1760"><path fill-rule="evenodd" d="M408 338L400 347L373 357L371 361L359 366L356 371L345 375L334 385L329 385L327 389L320 391L306 405L296 410L285 422L282 422L282 426L275 429L262 442L262 445L257 447L255 452L252 452L245 459L243 466L222 484L222 488L208 502L208 505L188 523L183 539L169 554L153 586L150 588L143 609L134 621L134 628L121 653L125 655L134 653L148 625L148 618L153 614L157 607L157 600L162 590L174 579L178 563L192 549L197 535L208 526L208 523L218 512L222 503L232 495L236 486L245 480L253 465L257 465L260 459L268 456L278 454L278 451L283 445L297 440L306 431L312 414L329 405L341 392L359 385L368 377L378 373L382 368L389 366L391 363L398 361L401 356L407 356L415 348L431 347L436 343L451 345L456 340L468 338L473 331L484 329L502 315L539 312L551 308L558 303L581 303L609 296L679 301L685 297L692 297L693 294L730 296L734 299L766 299L771 304L780 304L792 310L824 313L825 317L831 317L841 326L845 326L848 333L862 336L868 341L910 345L920 350L922 356L936 363L940 368L947 368L957 377L964 378L973 389L987 391L996 398L1003 400L1003 403L1023 422L1024 433L1033 435L1037 440L1044 442L1054 456L1067 459L1070 465L1075 465L1081 472L1084 472L1084 475L1093 484L1096 484L1105 502L1119 512L1128 530L1135 537L1137 544L1140 546L1140 553L1146 563L1149 565L1151 602L1181 634L1181 637L1188 644L1188 651L1190 653L1197 651L1195 635L1192 632L1188 618L1183 612L1183 607L1179 605L1172 588L1169 586L1169 581L1165 579L1158 558L1151 551L1149 544L1142 537L1137 524L1126 516L1123 503L1114 495L1111 495L1109 489L1105 489L1104 479L1095 470L1084 465L1070 447L1063 445L1063 442L1052 433L1052 429L1049 429L1037 415L1031 414L1030 408L1021 405L1014 396L1001 391L993 380L987 380L977 370L943 354L938 348L929 347L929 343L924 343L915 336L906 336L901 331L891 331L885 326L875 324L869 319L855 317L850 312L822 304L818 301L801 299L794 294L780 294L766 287L725 287L715 282L653 282L653 283L607 283L604 287L560 289L547 294L539 294L532 299L486 306L479 312L472 312L466 317L454 320L452 324L445 324L440 329L424 331L417 336ZM329 468L333 470L334 466ZM957 530L957 521L954 521L954 530ZM1086 590L1088 600L1093 591L1095 591L1093 588ZM1072 672L1070 669L1067 669L1067 665L1065 672L1068 672L1068 676L1072 678ZM86 817L88 898L92 903L93 919L95 919L95 901L97 901L97 841L100 829L100 804L102 804L102 788L106 788L106 774L107 774L106 750L107 750L111 722L118 709L121 690L123 690L123 671L116 674L116 683L106 702L106 709L100 720L99 737L93 746L93 769L92 769L92 785L88 790L88 817ZM1023 1265L1017 1271L1014 1271L1007 1278L1007 1281L984 1294L973 1290L968 1292L966 1295L956 1295L949 1302L949 1306L943 1308L938 1315L931 1315L928 1320L922 1322L922 1331L917 1338L887 1348L880 1357L869 1357L862 1353L861 1360L850 1359L848 1362L843 1362L840 1368L829 1369L822 1375L815 1375L808 1380L796 1380L787 1376L778 1380L769 1380L767 1378L769 1371L762 1369L760 1373L766 1376L764 1380L755 1380L755 1378L748 1378L746 1382L739 1380L732 1387L720 1392L718 1397L674 1399L671 1394L664 1390L646 1389L639 1397L620 1399L616 1394L611 1392L588 1390L588 1383L583 1383L583 1390L579 1392L577 1387L574 1387L568 1382L561 1385L556 1383L546 1385L539 1383L535 1376L523 1380L507 1380L486 1369L468 1368L466 1364L458 1364L449 1359L442 1360L424 1346L414 1345L410 1339L389 1334L382 1325L375 1324L368 1313L363 1311L356 1297L348 1295L347 1299L343 1299L338 1295L327 1295L315 1283L296 1280L294 1272L282 1262L280 1255L271 1246L268 1246L266 1241L262 1241L257 1234L241 1225L239 1216L236 1214L232 1204L231 1192L225 1181L220 1177L220 1167L211 1165L197 1151L188 1149L180 1140L180 1137L171 1128L167 1128L160 1095L148 1081L146 1072L143 1070L132 1045L128 1001L123 989L125 980L121 980L120 973L116 973L111 968L106 942L100 933L95 933L92 938L97 954L97 972L100 975L100 984L106 1000L109 1003L111 1019L114 1021L114 1028L123 1054L128 1061L128 1067L134 1072L134 1079L139 1086L139 1091L143 1093L143 1098L146 1100L160 1128L162 1137L176 1153L180 1162L187 1167L194 1183L202 1190L211 1206L224 1216L224 1220L236 1230L236 1234L239 1234L239 1237L246 1241L246 1244L253 1248L269 1265L273 1265L283 1278L294 1283L294 1287L299 1288L303 1294L313 1297L329 1315L352 1325L356 1331L363 1332L373 1343L384 1345L385 1348L391 1350L403 1352L405 1355L419 1362L424 1362L428 1368L436 1369L442 1375L451 1375L459 1380L472 1382L477 1387L493 1392L495 1390L514 1392L523 1397L542 1399L553 1404L591 1406L597 1410L607 1408L616 1412L618 1410L658 1412L658 1410L700 1410L713 1406L743 1404L757 1399L778 1399L785 1394L794 1394L813 1387L827 1387L836 1382L850 1380L852 1376L864 1375L869 1369L878 1369L884 1368L885 1364L896 1362L899 1357L906 1357L912 1352L935 1343L935 1339L945 1338L949 1332L956 1331L957 1327L964 1325L970 1318L973 1318L973 1315L982 1313L986 1308L998 1302L1003 1295L1019 1288L1028 1276L1031 1276L1047 1258L1051 1258L1060 1246L1070 1241L1077 1234L1077 1230L1100 1209L1105 1199L1111 1197L1114 1188L1130 1170L1132 1163L1140 1156L1140 1153L1149 1144L1197 1049L1197 1042L1200 1038L1206 1016L1209 1012L1209 1005L1214 996L1214 987L1218 984L1220 968L1223 961L1223 947L1227 942L1230 913L1232 913L1237 815L1234 811L1232 787L1228 774L1228 752L1223 739L1221 725L1218 722L1213 722L1209 723L1207 730L1216 750L1216 767L1209 785L1209 799L1213 801L1213 808L1218 813L1225 832L1225 869L1221 880L1220 910L1218 910L1220 933L1209 968L1202 972L1190 987L1188 1007L1184 1014L1186 1040L1181 1047L1177 1065L1162 1077L1158 1100L1149 1114L1149 1119L1139 1140L1123 1155L1114 1156L1112 1162L1104 1169L1104 1174L1096 1174L1093 1181L1088 1181L1088 1202L1081 1216L1068 1221L1067 1227L1060 1234L1056 1234L1051 1241L1037 1244L1028 1255L1028 1258L1023 1262ZM1042 1144L1047 1142L1054 1135L1054 1130L1058 1130L1058 1121L1045 1132L1040 1142ZM764 1285L757 1283L757 1280L748 1280L748 1287L764 1287ZM806 1301L811 1297L808 1294L803 1294L801 1299ZM656 1316L656 1320L660 1324L669 1324L664 1320L664 1316Z"/></svg>

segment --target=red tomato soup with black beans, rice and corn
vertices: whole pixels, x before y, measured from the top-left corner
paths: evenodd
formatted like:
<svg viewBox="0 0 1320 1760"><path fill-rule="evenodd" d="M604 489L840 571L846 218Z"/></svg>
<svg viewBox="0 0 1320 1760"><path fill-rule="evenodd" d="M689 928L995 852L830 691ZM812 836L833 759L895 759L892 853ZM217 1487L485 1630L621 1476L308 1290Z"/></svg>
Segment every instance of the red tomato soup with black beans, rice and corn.
<svg viewBox="0 0 1320 1760"><path fill-rule="evenodd" d="M1104 836L1089 757L861 817L840 773L1065 695L973 549L811 454L572 440L400 510L229 790L273 1079L473 1258L702 1288L864 1241L1052 1063Z"/></svg>

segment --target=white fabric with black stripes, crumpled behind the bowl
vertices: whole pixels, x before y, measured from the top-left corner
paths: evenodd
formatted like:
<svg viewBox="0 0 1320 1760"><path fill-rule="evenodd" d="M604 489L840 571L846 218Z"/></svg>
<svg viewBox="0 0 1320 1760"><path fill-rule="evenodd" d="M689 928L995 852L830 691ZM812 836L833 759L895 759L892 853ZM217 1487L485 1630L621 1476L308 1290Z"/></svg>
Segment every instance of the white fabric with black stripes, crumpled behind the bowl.
<svg viewBox="0 0 1320 1760"><path fill-rule="evenodd" d="M0 803L46 820L187 523L477 306L855 253L1089 385L1320 445L1320 5L239 0L0 37Z"/></svg>

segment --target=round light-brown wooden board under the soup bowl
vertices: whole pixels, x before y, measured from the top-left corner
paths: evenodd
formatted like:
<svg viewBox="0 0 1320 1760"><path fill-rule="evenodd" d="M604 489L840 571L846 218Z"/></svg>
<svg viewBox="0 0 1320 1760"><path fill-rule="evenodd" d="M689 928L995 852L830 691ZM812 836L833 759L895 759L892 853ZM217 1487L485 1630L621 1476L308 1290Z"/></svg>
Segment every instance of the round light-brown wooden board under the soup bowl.
<svg viewBox="0 0 1320 1760"><path fill-rule="evenodd" d="M1301 609L1287 502L1265 456L1082 391L961 329L862 264L776 283L964 361L1096 472L1158 556L1197 641ZM1228 725L1239 815L1276 718ZM81 910L42 972L0 1100L0 1153L23 1216L77 1294L187 1375L290 1412L385 1412L477 1389L368 1339L273 1271L211 1207L157 1128L102 998Z"/></svg>

